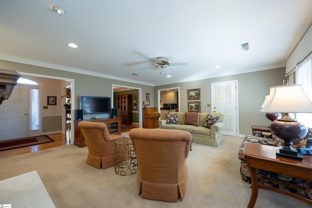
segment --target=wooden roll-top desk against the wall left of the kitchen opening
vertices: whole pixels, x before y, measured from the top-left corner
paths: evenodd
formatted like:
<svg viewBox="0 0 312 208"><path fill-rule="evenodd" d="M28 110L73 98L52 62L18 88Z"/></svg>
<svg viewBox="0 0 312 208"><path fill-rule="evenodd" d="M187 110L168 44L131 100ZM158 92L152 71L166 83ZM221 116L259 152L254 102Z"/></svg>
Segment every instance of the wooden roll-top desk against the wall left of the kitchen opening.
<svg viewBox="0 0 312 208"><path fill-rule="evenodd" d="M143 108L143 128L156 129L159 128L158 120L160 113L157 108Z"/></svg>

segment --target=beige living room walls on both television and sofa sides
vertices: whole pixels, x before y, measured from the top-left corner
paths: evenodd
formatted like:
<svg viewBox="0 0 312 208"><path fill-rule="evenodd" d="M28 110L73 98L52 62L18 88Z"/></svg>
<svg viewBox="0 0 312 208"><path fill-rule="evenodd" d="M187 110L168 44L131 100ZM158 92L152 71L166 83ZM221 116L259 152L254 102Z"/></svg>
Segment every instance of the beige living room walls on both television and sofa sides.
<svg viewBox="0 0 312 208"><path fill-rule="evenodd" d="M285 68L278 68L233 76L215 77L197 81L153 87L148 85L141 85L137 83L119 81L98 76L89 76L67 71L54 70L50 68L32 66L5 60L0 60L0 67L13 69L18 72L75 79L75 109L79 109L80 95L98 95L111 97L112 84L115 84L141 88L142 100L145 99L146 93L150 93L150 107L157 106L158 89L180 87L181 112L187 111L187 90L200 88L201 112L211 112L210 107L207 107L207 104L211 103L211 83L228 80L238 80L239 134L250 134L250 126L252 124L270 124L270 121L265 117L265 114L259 112L260 105L263 103L265 95L269 94L269 88L275 85L281 85L282 80L285 78ZM138 101L138 103L141 105L142 100Z"/></svg>

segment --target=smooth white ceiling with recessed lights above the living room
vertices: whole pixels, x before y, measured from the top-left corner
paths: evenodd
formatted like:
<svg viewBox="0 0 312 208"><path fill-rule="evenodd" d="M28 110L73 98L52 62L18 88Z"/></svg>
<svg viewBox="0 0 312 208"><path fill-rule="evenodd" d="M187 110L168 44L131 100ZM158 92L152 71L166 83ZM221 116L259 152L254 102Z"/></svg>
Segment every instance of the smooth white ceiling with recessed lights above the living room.
<svg viewBox="0 0 312 208"><path fill-rule="evenodd" d="M267 70L286 66L311 11L312 0L1 0L0 59L151 86ZM188 66L160 74L152 57Z"/></svg>

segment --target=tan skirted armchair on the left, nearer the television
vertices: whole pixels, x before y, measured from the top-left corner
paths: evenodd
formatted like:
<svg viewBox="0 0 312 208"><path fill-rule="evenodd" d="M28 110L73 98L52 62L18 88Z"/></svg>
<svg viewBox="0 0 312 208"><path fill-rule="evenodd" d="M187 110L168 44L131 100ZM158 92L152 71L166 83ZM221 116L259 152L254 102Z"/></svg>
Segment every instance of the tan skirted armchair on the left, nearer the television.
<svg viewBox="0 0 312 208"><path fill-rule="evenodd" d="M80 121L78 123L88 147L87 164L95 168L109 168L115 165L115 140L124 135L109 134L106 124Z"/></svg>

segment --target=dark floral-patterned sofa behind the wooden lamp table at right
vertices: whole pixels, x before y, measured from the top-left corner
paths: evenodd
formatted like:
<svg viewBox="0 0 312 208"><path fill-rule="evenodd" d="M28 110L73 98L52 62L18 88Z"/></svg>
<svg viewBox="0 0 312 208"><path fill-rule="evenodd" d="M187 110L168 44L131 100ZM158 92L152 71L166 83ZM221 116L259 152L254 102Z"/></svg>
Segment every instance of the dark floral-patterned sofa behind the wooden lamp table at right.
<svg viewBox="0 0 312 208"><path fill-rule="evenodd" d="M293 148L305 148L308 139L312 139L312 129L308 128L308 134L303 139L292 141ZM310 140L309 140L310 141ZM246 166L245 155L243 154L247 143L255 143L259 145L283 146L284 141L268 132L254 132L254 135L246 135L238 151L238 159L240 162L240 173L242 179L251 184L249 168ZM286 175L280 175L274 172L258 170L258 180L265 186L283 189L282 191L290 192L299 197L312 199L312 189L309 188L310 182L299 178ZM293 186L296 185L296 186ZM298 185L300 185L298 188Z"/></svg>

